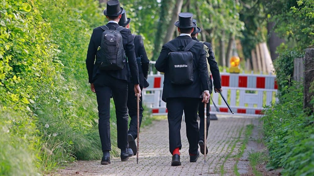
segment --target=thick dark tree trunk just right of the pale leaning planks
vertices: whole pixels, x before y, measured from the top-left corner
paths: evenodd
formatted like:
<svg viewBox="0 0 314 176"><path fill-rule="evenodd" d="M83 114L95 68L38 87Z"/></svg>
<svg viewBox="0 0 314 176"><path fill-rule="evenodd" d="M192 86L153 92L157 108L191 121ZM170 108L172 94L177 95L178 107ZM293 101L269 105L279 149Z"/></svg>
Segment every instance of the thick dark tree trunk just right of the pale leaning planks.
<svg viewBox="0 0 314 176"><path fill-rule="evenodd" d="M268 22L267 23L267 35L268 38L268 46L270 50L270 56L272 60L275 60L278 57L278 54L276 53L276 48L284 42L284 39L281 39L277 36L277 34L274 32L273 27L275 25L275 22Z"/></svg>

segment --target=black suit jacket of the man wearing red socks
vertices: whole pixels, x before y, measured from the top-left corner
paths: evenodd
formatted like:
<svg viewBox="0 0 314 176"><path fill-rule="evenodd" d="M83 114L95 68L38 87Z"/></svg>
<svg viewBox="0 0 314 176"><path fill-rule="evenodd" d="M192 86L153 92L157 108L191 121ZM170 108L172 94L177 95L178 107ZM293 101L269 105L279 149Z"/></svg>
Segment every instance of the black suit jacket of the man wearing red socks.
<svg viewBox="0 0 314 176"><path fill-rule="evenodd" d="M190 36L178 36L175 39L169 41L176 47L184 46L192 41ZM174 97L191 97L202 98L202 93L205 90L209 90L208 83L208 71L206 63L206 53L203 47L203 43L197 42L189 50L193 54L193 83L190 85L174 85L170 82L170 75L168 73L168 54L171 50L167 46L163 46L160 55L156 61L155 67L158 71L165 73L164 88L162 92L162 100L167 102L167 98Z"/></svg>

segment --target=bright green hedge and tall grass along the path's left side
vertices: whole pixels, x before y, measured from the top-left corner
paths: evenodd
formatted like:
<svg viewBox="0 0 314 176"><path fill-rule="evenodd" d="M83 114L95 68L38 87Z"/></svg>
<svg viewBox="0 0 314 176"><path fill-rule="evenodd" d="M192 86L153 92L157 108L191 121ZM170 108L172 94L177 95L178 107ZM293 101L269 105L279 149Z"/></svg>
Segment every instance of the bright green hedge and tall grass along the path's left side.
<svg viewBox="0 0 314 176"><path fill-rule="evenodd" d="M98 1L0 2L0 175L100 159L96 96L85 68ZM116 117L111 103L111 154Z"/></svg>

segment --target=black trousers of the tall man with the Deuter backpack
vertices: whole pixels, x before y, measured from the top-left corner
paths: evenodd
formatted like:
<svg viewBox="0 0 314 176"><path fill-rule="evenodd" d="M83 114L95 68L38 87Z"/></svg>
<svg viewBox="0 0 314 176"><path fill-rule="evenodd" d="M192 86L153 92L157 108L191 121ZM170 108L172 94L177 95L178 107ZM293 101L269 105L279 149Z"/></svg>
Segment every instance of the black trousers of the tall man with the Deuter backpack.
<svg viewBox="0 0 314 176"><path fill-rule="evenodd" d="M110 142L110 96L112 92L116 107L118 148L127 148L127 81L100 75L94 81L98 103L99 135L102 151L111 150Z"/></svg>

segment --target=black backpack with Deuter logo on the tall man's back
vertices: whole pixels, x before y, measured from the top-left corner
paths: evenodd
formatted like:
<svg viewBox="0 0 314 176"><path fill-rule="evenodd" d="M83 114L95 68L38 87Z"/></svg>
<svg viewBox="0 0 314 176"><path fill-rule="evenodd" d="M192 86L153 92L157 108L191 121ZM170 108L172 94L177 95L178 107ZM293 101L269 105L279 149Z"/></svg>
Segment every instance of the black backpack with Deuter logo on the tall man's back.
<svg viewBox="0 0 314 176"><path fill-rule="evenodd" d="M101 70L121 70L126 62L123 49L121 30L119 26L115 30L109 29L106 25L100 26L104 32L101 35L100 49L97 51L96 63Z"/></svg>

